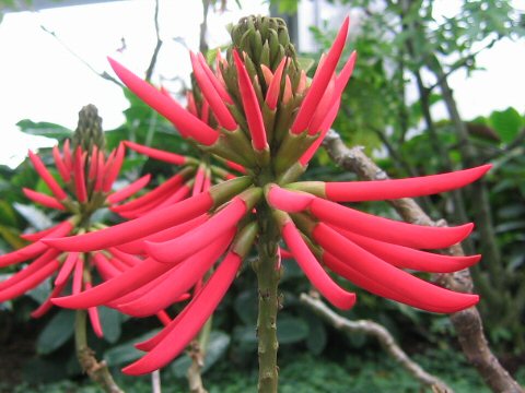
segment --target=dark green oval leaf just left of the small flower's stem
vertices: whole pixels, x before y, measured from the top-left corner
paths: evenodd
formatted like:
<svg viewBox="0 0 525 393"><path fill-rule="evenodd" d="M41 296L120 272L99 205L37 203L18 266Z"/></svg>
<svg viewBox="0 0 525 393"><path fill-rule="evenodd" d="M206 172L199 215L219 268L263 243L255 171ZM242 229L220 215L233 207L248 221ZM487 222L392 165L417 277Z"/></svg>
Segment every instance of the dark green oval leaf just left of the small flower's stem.
<svg viewBox="0 0 525 393"><path fill-rule="evenodd" d="M60 310L44 327L36 342L36 352L47 355L61 347L72 335L75 311Z"/></svg>

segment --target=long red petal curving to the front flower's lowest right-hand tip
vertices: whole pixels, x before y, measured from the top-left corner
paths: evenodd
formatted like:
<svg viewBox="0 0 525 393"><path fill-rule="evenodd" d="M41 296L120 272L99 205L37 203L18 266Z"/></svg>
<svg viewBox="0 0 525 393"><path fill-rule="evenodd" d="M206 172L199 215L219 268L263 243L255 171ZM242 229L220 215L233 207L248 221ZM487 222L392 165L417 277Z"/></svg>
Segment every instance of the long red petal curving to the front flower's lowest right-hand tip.
<svg viewBox="0 0 525 393"><path fill-rule="evenodd" d="M412 306L434 312L456 312L478 302L477 295L454 293L429 284L394 267L336 230L319 224L313 231L315 240L335 257L347 261L355 271L412 300Z"/></svg>

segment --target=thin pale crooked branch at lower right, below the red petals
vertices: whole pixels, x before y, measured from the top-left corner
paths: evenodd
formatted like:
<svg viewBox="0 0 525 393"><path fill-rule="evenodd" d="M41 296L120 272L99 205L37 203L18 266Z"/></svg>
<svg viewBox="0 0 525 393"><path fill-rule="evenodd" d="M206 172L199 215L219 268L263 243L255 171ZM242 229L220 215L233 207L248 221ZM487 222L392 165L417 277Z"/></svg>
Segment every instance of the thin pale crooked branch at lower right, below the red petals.
<svg viewBox="0 0 525 393"><path fill-rule="evenodd" d="M350 321L334 312L320 299L316 299L306 294L301 294L300 300L303 305L307 306L323 320L339 331L348 333L363 333L377 338L380 344L394 358L394 360L401 365L401 367L404 367L419 382L430 386L434 392L453 392L453 390L443 381L428 373L421 368L421 366L411 360L383 325L369 320Z"/></svg>

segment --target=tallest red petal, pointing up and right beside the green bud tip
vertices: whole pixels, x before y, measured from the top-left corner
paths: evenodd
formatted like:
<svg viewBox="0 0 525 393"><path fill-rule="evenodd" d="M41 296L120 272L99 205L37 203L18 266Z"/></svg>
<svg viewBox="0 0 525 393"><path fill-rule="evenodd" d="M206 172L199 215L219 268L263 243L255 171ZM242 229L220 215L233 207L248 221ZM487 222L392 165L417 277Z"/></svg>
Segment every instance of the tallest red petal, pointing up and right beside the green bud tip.
<svg viewBox="0 0 525 393"><path fill-rule="evenodd" d="M291 131L292 133L301 133L307 129L310 120L312 119L315 108L319 103L323 94L325 93L326 86L328 85L334 71L336 70L337 62L341 57L342 48L347 39L349 19L345 19L345 23L339 31L334 45L331 46L330 51L325 58L325 61L319 66L312 85L310 86L306 96L304 97L303 104L299 109L298 116L293 121Z"/></svg>

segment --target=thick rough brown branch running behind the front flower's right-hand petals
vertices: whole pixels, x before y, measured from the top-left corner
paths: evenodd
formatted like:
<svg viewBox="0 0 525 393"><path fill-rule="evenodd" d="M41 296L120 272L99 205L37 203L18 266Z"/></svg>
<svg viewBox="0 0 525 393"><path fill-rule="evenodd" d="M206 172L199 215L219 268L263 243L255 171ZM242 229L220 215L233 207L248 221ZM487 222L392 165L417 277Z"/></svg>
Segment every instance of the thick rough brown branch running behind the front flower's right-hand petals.
<svg viewBox="0 0 525 393"><path fill-rule="evenodd" d="M349 148L334 130L326 135L324 146L337 165L355 172L362 179L385 180L388 178L386 172L375 165L361 147ZM429 226L439 225L412 199L405 198L389 202L406 222ZM440 224L443 225L443 223ZM445 252L455 257L464 255L460 245L455 245L446 249ZM436 281L453 290L472 290L472 281L468 270L438 275ZM476 367L487 385L494 392L523 393L524 390L492 354L477 308L471 307L453 313L450 318L465 356Z"/></svg>

